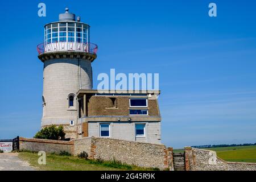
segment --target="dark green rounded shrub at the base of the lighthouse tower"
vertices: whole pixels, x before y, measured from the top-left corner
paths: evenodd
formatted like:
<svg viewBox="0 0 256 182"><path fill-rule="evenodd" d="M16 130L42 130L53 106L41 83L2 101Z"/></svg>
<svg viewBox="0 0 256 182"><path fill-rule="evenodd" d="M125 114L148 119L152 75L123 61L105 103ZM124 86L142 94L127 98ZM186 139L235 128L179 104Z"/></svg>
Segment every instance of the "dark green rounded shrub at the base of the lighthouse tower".
<svg viewBox="0 0 256 182"><path fill-rule="evenodd" d="M34 138L39 139L49 139L49 140L63 140L65 138L65 133L63 126L56 127L55 125L51 125L49 127L45 127L41 131L36 133Z"/></svg>

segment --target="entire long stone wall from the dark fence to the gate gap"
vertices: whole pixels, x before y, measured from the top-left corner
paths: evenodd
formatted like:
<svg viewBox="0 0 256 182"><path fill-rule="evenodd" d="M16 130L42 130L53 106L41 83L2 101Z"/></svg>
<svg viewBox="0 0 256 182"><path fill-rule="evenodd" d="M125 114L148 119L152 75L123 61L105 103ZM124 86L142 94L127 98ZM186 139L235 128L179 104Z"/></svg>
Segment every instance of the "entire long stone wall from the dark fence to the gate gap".
<svg viewBox="0 0 256 182"><path fill-rule="evenodd" d="M20 150L56 153L67 151L75 156L85 151L89 159L115 159L135 166L174 170L172 148L162 144L96 137L74 139L69 142L20 138Z"/></svg>

